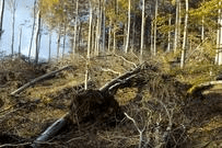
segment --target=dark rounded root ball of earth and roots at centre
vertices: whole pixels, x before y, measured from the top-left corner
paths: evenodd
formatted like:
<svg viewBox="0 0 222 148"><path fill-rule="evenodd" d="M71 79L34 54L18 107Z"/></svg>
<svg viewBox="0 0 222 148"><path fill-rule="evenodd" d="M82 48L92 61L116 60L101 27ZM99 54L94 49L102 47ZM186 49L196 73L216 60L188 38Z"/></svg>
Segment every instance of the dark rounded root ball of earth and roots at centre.
<svg viewBox="0 0 222 148"><path fill-rule="evenodd" d="M72 123L101 123L113 125L122 119L124 113L113 95L100 90L86 90L74 95L70 104Z"/></svg>

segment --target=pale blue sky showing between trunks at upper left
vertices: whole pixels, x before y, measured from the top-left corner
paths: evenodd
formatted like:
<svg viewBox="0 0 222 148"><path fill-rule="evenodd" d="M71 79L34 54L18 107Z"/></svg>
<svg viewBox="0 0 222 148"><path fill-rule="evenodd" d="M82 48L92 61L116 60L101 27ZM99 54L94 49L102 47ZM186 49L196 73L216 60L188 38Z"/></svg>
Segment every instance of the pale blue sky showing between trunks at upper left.
<svg viewBox="0 0 222 148"><path fill-rule="evenodd" d="M10 7L11 0L5 0L4 15L3 15L3 31L4 33L1 36L0 41L0 52L4 50L8 54L11 53L11 43L12 43L12 9ZM19 52L19 41L20 32L22 31L22 43L21 43L21 53L23 55L28 55L32 26L33 26L33 4L34 0L15 0L16 10L15 10L15 38L14 38L14 53ZM1 5L0 5L1 8ZM36 21L37 22L37 21ZM61 38L61 43L62 43ZM66 52L69 50L69 41L66 42ZM60 45L62 46L62 45ZM35 56L35 37L32 46L32 56ZM45 25L43 25L42 31L42 43L39 57L47 59L49 49L49 34ZM56 56L57 50L57 33L54 31L51 36L51 56ZM61 48L60 48L61 50Z"/></svg>

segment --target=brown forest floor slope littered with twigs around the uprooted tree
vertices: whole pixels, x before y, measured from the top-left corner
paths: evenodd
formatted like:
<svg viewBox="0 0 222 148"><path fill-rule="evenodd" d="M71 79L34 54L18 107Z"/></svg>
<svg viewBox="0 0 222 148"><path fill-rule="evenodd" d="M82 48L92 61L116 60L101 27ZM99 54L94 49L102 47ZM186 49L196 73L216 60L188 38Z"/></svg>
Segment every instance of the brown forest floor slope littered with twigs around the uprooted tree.
<svg viewBox="0 0 222 148"><path fill-rule="evenodd" d="M128 57L130 58L92 58L87 66L91 81L89 89L100 89L112 79L136 68L140 60L133 55ZM1 61L0 147L31 147L35 138L49 125L69 112L72 98L84 91L85 60L80 56L38 66L20 58ZM206 81L213 78L201 70L195 75L184 75L182 71L170 72L166 66L160 62L148 62L161 70L148 73L152 76L149 77L152 81L143 86L147 89L140 91L141 88L125 88L115 94L122 111L137 122L139 129L144 127L142 141L139 141L139 130L133 122L124 117L115 126L109 126L106 121L69 124L46 141L44 147L108 148L138 147L139 144L143 147L222 147L222 86L214 86L198 96L188 96L187 90L197 79L205 77L206 79L200 81ZM66 65L72 67L35 83L17 95L10 95L31 80ZM160 103L151 100L152 98L160 99ZM165 104L164 107L160 107L162 104ZM168 121L172 122L172 141L160 145L163 139L156 135L163 135ZM159 125L162 133L157 133Z"/></svg>

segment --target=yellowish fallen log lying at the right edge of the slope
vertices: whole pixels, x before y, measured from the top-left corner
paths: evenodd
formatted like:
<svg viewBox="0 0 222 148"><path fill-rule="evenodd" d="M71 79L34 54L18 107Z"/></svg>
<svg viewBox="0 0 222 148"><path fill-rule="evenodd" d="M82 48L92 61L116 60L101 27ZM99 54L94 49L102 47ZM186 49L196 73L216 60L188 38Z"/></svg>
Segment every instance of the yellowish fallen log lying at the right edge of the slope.
<svg viewBox="0 0 222 148"><path fill-rule="evenodd" d="M222 84L222 80L220 80L220 81L209 81L209 82L203 82L203 83L194 86L188 90L188 94L195 94L195 93L197 93L199 91L202 92L202 91L205 91L207 89L210 89L212 86L215 86L215 84Z"/></svg>

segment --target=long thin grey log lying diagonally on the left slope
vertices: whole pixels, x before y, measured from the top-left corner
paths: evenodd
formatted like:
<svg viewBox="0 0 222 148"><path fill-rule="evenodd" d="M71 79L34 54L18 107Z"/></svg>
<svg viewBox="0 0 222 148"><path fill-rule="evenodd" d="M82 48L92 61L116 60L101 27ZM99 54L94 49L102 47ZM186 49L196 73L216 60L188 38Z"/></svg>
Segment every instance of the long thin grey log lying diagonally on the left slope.
<svg viewBox="0 0 222 148"><path fill-rule="evenodd" d="M25 83L24 86L22 86L22 87L19 88L17 90L13 91L13 92L11 93L11 95L15 95L15 94L22 92L23 90L27 89L28 87L35 84L36 82L38 82L38 81L40 81L40 80L43 80L43 79L46 79L46 78L48 78L48 77L51 77L51 76L56 75L57 72L60 72L60 71L62 71L62 70L65 70L65 69L68 69L68 68L70 68L70 66L65 66L65 67L62 67L62 68L60 68L60 69L58 69L58 70L51 71L51 72L49 72L49 73L45 73L45 75L43 75L43 76L40 76L40 77L38 77L38 78L32 80L31 82Z"/></svg>

